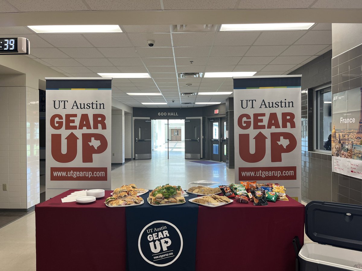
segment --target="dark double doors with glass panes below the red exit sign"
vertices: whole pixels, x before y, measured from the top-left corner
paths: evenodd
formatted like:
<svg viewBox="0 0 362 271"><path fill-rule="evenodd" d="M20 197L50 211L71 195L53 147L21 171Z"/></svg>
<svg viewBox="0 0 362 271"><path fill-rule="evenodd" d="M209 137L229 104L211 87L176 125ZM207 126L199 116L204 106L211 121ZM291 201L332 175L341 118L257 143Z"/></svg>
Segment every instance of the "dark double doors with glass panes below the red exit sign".
<svg viewBox="0 0 362 271"><path fill-rule="evenodd" d="M210 120L210 159L226 162L226 118Z"/></svg>

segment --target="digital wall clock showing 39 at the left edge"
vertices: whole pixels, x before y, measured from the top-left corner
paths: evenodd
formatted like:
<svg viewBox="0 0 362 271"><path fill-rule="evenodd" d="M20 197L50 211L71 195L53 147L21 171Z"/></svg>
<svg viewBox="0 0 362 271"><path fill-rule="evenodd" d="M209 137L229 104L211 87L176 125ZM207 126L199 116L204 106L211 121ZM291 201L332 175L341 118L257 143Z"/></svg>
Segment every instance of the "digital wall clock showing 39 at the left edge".
<svg viewBox="0 0 362 271"><path fill-rule="evenodd" d="M29 55L30 42L27 38L0 38L1 55Z"/></svg>

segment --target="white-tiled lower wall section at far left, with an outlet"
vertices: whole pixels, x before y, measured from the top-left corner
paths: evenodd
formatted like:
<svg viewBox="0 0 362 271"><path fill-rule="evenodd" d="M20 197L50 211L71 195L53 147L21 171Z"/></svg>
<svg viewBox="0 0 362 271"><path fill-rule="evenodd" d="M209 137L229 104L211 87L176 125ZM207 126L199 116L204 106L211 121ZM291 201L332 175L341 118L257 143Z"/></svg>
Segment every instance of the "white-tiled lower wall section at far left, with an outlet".
<svg viewBox="0 0 362 271"><path fill-rule="evenodd" d="M30 208L40 201L39 90L0 87L0 108L0 208Z"/></svg>

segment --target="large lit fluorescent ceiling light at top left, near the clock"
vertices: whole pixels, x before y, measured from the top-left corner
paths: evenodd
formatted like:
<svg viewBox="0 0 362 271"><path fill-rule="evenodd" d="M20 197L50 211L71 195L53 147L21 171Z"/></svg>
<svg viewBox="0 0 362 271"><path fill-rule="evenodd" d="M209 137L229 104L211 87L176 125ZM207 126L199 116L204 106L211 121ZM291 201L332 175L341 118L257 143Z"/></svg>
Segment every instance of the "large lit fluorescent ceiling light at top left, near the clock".
<svg viewBox="0 0 362 271"><path fill-rule="evenodd" d="M119 25L28 25L36 33L118 33Z"/></svg>

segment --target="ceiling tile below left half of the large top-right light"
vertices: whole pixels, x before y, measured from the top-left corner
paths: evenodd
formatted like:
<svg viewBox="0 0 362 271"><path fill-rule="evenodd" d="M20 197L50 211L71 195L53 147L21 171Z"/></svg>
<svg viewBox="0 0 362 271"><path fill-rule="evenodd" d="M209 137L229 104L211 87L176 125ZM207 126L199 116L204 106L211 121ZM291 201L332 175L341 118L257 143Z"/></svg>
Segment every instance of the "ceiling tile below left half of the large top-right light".
<svg viewBox="0 0 362 271"><path fill-rule="evenodd" d="M260 32L217 32L214 46L243 46L252 45Z"/></svg>

